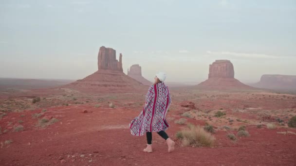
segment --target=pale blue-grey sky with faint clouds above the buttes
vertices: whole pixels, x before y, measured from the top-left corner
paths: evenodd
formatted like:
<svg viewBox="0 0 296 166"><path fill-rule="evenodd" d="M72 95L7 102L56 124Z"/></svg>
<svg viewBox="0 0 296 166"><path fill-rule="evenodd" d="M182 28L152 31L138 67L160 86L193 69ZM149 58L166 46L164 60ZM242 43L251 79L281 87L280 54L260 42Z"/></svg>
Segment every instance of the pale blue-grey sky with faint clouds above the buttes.
<svg viewBox="0 0 296 166"><path fill-rule="evenodd" d="M245 83L296 75L296 0L0 0L0 77L82 79L101 46L151 81L204 81L216 59Z"/></svg>

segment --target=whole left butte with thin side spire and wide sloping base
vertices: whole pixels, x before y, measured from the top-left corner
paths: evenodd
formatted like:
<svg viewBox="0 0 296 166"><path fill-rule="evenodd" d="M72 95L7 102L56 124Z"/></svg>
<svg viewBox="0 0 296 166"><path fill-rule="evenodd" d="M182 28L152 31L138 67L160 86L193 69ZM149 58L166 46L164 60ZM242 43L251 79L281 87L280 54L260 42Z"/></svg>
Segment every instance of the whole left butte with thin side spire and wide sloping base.
<svg viewBox="0 0 296 166"><path fill-rule="evenodd" d="M147 88L123 73L122 54L119 56L119 61L116 60L116 51L111 48L104 46L100 48L97 65L96 72L65 87L88 92L126 92L134 89L146 90Z"/></svg>

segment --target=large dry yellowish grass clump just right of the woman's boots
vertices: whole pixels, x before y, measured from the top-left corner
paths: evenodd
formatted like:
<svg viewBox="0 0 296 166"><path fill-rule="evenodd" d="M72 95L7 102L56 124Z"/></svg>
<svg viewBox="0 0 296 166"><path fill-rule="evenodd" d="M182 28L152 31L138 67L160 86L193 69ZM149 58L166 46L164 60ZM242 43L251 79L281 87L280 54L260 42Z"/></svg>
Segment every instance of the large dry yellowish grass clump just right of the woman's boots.
<svg viewBox="0 0 296 166"><path fill-rule="evenodd" d="M182 146L192 147L211 147L214 144L215 137L201 126L191 126L178 132L178 138L182 141Z"/></svg>

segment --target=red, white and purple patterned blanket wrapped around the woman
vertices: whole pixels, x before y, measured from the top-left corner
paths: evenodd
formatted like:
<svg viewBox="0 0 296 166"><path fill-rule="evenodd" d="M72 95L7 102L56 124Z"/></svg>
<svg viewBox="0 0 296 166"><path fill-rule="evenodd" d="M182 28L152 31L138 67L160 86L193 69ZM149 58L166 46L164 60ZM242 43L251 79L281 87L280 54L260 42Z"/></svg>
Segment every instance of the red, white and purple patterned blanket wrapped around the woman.
<svg viewBox="0 0 296 166"><path fill-rule="evenodd" d="M129 123L130 133L142 136L146 132L166 131L169 127L166 113L170 103L171 98L165 83L150 86L143 111Z"/></svg>

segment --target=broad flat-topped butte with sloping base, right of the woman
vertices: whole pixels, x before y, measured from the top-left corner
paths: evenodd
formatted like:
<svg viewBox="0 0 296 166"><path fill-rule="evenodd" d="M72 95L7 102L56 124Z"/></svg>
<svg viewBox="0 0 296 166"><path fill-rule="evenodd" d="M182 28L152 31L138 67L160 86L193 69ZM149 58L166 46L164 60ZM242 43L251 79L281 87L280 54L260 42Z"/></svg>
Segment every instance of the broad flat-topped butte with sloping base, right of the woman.
<svg viewBox="0 0 296 166"><path fill-rule="evenodd" d="M234 67L229 60L216 60L209 66L208 79L198 86L209 88L250 88L234 78Z"/></svg>

